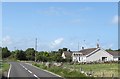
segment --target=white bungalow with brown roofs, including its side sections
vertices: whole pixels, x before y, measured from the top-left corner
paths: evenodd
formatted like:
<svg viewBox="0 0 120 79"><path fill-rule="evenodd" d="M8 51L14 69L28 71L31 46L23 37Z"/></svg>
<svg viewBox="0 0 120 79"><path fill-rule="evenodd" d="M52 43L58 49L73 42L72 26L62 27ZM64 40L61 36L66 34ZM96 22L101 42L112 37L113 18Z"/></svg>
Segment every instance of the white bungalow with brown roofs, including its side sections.
<svg viewBox="0 0 120 79"><path fill-rule="evenodd" d="M118 51L105 51L104 49L97 48L88 48L80 51L63 52L62 57L66 58L67 56L72 57L74 62L93 62L93 61L118 61L120 60L120 55Z"/></svg>

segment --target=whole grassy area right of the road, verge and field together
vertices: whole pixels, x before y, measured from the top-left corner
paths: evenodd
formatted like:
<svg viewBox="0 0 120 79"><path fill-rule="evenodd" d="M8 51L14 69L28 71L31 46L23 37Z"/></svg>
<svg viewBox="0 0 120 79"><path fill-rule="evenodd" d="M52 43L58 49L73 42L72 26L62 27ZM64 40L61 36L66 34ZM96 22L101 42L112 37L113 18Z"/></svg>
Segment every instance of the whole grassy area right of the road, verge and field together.
<svg viewBox="0 0 120 79"><path fill-rule="evenodd" d="M85 77L84 74L80 73L80 68L82 68L85 72L92 71L93 76L96 77L118 77L118 63L110 63L110 64L64 64L63 67L50 67L47 68L45 65L34 63L33 65L56 73L64 78L66 77Z"/></svg>

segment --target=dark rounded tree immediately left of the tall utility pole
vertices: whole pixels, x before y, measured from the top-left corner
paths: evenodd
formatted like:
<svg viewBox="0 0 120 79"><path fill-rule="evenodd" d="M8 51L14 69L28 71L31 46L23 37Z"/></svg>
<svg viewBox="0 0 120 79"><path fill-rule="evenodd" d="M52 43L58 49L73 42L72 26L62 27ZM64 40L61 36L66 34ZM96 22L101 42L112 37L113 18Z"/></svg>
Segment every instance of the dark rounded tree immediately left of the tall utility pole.
<svg viewBox="0 0 120 79"><path fill-rule="evenodd" d="M25 53L26 53L27 60L32 60L32 61L35 60L35 50L34 50L34 48L28 48L25 51Z"/></svg>

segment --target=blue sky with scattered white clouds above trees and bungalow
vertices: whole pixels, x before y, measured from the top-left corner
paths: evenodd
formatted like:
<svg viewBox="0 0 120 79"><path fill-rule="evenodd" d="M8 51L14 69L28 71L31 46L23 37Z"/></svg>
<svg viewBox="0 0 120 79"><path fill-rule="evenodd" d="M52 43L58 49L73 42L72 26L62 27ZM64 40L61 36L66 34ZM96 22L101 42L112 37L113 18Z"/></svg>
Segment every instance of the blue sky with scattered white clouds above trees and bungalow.
<svg viewBox="0 0 120 79"><path fill-rule="evenodd" d="M26 50L35 38L38 51L118 49L118 3L3 2L2 46Z"/></svg>

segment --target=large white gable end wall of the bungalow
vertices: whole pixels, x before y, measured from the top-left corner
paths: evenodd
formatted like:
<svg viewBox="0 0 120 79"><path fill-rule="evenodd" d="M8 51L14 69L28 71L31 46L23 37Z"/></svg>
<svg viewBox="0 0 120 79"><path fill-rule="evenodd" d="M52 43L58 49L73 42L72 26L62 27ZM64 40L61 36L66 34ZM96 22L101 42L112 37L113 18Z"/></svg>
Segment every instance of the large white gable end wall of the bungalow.
<svg viewBox="0 0 120 79"><path fill-rule="evenodd" d="M110 55L108 52L106 52L103 49L100 49L99 51L97 51L96 53L86 57L86 62L89 61L98 61L101 60L102 61L102 57L107 57L106 61L111 61L113 60L113 56Z"/></svg>

